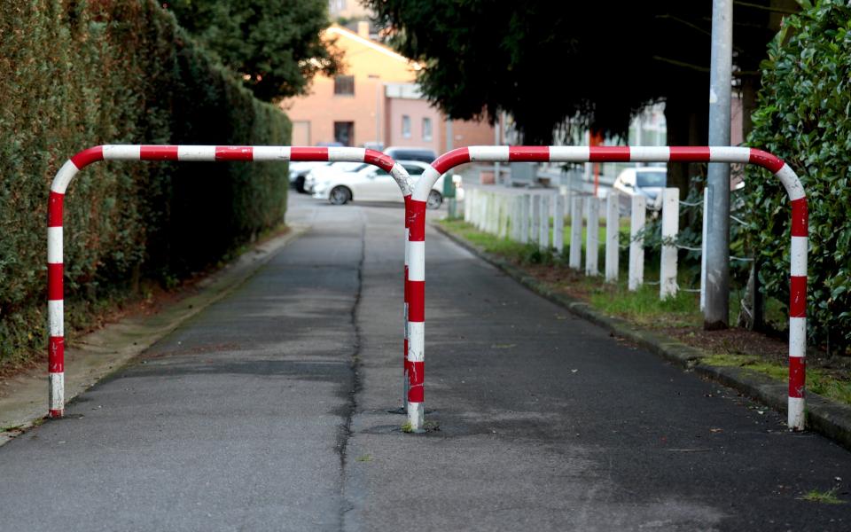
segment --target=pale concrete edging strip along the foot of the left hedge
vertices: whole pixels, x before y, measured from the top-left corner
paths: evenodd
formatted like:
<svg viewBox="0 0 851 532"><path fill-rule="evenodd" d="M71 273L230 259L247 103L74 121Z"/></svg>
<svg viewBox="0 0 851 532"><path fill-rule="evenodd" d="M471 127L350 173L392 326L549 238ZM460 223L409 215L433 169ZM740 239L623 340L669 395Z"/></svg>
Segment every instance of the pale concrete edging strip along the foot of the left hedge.
<svg viewBox="0 0 851 532"><path fill-rule="evenodd" d="M74 340L66 349L65 403L71 403L101 379L121 370L158 340L237 289L277 252L308 231L291 225L284 235L251 247L222 270L201 279L194 293L168 303L150 316L126 317ZM44 422L47 390L43 368L14 378L0 396L0 445Z"/></svg>

